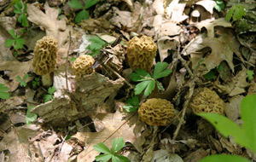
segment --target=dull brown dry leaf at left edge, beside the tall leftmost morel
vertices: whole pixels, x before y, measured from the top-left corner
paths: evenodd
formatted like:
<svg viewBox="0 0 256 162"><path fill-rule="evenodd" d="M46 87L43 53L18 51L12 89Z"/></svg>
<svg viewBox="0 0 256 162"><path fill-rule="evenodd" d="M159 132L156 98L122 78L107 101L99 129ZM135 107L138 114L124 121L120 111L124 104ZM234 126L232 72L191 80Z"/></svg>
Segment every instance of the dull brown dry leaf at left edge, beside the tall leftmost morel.
<svg viewBox="0 0 256 162"><path fill-rule="evenodd" d="M9 79L12 80L8 85L9 91L14 91L19 86L20 82L16 82L16 77L23 78L32 68L32 61L4 61L0 63L0 71L10 71L7 73Z"/></svg>

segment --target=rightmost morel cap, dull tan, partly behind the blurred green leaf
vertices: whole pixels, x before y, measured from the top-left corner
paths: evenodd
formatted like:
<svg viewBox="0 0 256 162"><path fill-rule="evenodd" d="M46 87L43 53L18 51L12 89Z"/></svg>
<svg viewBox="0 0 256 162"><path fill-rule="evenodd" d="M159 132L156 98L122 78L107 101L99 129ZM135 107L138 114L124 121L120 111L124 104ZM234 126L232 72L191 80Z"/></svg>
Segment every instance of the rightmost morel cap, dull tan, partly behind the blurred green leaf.
<svg viewBox="0 0 256 162"><path fill-rule="evenodd" d="M208 88L195 90L195 95L189 103L194 113L224 113L224 102L217 93Z"/></svg>

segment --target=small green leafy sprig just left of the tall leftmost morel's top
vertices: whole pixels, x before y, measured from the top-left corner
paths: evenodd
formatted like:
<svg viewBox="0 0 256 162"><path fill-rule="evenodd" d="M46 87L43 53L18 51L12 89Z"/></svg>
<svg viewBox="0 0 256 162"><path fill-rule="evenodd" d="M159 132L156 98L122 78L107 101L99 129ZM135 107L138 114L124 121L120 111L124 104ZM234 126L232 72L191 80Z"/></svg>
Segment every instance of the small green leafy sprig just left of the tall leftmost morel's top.
<svg viewBox="0 0 256 162"><path fill-rule="evenodd" d="M20 38L20 35L16 35L14 29L9 30L9 34L14 39L6 39L4 41L4 46L5 47L14 46L15 51L17 51L18 49L23 49L23 45L25 43L24 38Z"/></svg>

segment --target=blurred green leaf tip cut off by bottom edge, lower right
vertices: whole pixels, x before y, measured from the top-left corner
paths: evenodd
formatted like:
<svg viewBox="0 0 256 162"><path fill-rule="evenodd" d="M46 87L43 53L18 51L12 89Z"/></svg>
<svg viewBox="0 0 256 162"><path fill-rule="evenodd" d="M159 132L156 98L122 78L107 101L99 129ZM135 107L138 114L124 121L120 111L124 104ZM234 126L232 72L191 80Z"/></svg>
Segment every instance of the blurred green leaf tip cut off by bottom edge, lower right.
<svg viewBox="0 0 256 162"><path fill-rule="evenodd" d="M214 154L201 159L199 162L250 162L250 160L237 155Z"/></svg>

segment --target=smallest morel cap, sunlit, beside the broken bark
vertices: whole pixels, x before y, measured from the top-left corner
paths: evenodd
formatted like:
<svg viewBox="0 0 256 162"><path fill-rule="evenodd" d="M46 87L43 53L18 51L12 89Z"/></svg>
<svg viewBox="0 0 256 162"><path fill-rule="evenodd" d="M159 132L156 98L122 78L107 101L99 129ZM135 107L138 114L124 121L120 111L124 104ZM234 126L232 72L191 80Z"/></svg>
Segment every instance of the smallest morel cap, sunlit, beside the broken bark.
<svg viewBox="0 0 256 162"><path fill-rule="evenodd" d="M76 61L73 62L73 72L76 78L81 78L82 75L90 74L93 72L91 66L94 64L95 60L90 55L80 55Z"/></svg>

